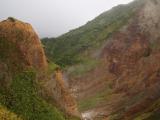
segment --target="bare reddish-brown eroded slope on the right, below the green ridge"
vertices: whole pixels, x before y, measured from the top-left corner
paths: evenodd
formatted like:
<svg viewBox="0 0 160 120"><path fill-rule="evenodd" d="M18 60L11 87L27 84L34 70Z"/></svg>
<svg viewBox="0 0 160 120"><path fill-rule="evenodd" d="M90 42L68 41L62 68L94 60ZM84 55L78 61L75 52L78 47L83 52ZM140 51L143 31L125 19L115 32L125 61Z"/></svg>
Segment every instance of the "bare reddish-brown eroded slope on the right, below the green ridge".
<svg viewBox="0 0 160 120"><path fill-rule="evenodd" d="M99 103L87 99L96 104L91 107L96 114L92 119L158 120L159 9L160 1L146 0L128 24L108 40L101 51L101 64L76 78L79 101L85 100L85 95L98 99Z"/></svg>

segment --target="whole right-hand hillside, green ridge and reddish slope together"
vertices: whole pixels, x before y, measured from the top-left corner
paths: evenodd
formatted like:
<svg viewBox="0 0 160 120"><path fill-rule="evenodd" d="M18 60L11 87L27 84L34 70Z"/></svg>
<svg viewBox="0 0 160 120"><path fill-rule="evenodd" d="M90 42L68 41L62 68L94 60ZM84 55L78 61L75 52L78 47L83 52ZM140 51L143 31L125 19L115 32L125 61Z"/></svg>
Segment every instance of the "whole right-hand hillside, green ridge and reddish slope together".
<svg viewBox="0 0 160 120"><path fill-rule="evenodd" d="M159 10L158 0L136 0L43 41L50 59L67 66L84 118L159 120Z"/></svg>

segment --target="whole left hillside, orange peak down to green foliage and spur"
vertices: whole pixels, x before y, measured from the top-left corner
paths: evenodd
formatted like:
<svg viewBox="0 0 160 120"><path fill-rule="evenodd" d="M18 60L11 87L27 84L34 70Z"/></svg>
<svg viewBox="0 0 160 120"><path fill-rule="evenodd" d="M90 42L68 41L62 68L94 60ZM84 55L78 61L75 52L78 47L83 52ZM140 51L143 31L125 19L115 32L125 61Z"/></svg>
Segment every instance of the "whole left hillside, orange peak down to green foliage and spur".
<svg viewBox="0 0 160 120"><path fill-rule="evenodd" d="M68 89L64 84L60 86L59 79L51 79L54 71L30 24L14 18L0 22L0 104L4 106L0 108L0 118L65 120L78 116ZM73 103L69 104L69 100Z"/></svg>

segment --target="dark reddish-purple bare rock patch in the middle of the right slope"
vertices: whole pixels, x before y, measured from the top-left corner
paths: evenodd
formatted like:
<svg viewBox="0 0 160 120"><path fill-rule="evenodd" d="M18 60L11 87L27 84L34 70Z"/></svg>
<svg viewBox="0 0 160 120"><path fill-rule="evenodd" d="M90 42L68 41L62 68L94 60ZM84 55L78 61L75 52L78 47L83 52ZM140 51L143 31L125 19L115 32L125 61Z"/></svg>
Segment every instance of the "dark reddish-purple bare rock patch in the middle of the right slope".
<svg viewBox="0 0 160 120"><path fill-rule="evenodd" d="M143 35L131 36L128 38L127 34L118 33L104 48L103 57L110 63L109 71L115 75L133 70L138 60L151 52L149 42Z"/></svg>

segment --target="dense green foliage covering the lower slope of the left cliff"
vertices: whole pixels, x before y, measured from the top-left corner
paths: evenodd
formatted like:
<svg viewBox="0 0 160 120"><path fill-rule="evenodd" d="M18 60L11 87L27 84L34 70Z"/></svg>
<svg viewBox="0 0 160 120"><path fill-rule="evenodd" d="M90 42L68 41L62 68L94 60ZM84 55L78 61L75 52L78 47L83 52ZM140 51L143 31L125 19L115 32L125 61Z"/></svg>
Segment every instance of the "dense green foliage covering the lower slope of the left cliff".
<svg viewBox="0 0 160 120"><path fill-rule="evenodd" d="M1 103L25 120L64 120L62 114L37 95L36 74L23 72L14 77L11 88L1 95Z"/></svg>

